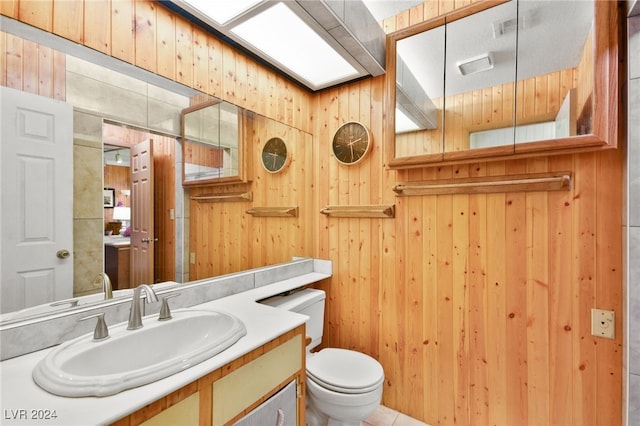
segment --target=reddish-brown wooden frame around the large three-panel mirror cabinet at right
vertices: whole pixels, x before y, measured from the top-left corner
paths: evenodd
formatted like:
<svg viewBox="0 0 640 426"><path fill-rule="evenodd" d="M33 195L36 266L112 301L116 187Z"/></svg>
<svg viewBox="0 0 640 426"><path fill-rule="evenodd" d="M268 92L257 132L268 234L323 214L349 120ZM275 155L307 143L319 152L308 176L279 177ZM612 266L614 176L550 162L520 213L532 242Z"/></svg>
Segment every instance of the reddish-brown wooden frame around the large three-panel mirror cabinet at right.
<svg viewBox="0 0 640 426"><path fill-rule="evenodd" d="M386 162L389 169L409 169L424 166L477 161L506 160L541 154L565 154L617 148L618 114L620 109L620 6L618 2L594 1L594 88L593 133L515 144L505 152L504 147L441 152L411 157L396 157L396 43L407 37L463 19L491 7L516 0L484 0L464 6L444 15L420 22L387 35L386 103L388 111L384 127Z"/></svg>

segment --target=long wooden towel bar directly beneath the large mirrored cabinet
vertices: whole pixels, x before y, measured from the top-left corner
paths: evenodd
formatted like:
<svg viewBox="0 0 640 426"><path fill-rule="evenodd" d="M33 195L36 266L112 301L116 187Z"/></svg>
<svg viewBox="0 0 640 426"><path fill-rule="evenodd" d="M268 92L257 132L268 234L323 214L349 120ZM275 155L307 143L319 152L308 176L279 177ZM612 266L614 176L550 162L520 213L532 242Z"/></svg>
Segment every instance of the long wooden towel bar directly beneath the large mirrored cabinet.
<svg viewBox="0 0 640 426"><path fill-rule="evenodd" d="M407 182L396 185L397 195L488 194L495 192L566 191L571 172Z"/></svg>

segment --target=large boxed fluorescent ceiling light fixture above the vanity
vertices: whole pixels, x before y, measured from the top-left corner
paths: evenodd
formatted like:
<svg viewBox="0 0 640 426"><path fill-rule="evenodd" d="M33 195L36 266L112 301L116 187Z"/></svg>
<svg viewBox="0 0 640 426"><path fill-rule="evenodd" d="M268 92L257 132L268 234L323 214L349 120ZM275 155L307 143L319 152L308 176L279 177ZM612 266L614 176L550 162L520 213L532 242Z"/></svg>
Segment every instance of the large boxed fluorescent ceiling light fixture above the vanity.
<svg viewBox="0 0 640 426"><path fill-rule="evenodd" d="M385 72L386 34L361 0L162 3L312 91Z"/></svg>

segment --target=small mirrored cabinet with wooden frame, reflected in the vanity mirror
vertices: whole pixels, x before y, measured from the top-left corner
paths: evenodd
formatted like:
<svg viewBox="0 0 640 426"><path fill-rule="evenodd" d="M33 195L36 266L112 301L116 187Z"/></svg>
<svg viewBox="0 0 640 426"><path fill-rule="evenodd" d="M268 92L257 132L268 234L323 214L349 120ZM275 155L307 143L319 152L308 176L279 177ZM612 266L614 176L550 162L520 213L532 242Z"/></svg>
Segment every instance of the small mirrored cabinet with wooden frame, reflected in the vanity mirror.
<svg viewBox="0 0 640 426"><path fill-rule="evenodd" d="M245 110L212 99L184 109L181 117L183 185L246 181Z"/></svg>

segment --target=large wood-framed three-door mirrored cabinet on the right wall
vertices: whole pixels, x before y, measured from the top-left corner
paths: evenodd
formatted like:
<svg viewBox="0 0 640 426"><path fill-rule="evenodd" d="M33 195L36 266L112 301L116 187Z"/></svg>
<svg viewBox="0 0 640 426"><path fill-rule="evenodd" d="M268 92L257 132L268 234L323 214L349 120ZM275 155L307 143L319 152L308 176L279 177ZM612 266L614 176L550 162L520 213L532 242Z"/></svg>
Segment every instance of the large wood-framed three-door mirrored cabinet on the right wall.
<svg viewBox="0 0 640 426"><path fill-rule="evenodd" d="M615 16L615 2L480 2L390 34L390 167L615 147L617 109L596 108L618 96Z"/></svg>

